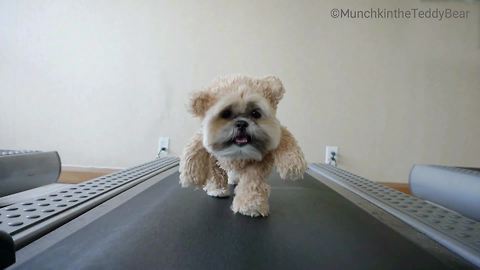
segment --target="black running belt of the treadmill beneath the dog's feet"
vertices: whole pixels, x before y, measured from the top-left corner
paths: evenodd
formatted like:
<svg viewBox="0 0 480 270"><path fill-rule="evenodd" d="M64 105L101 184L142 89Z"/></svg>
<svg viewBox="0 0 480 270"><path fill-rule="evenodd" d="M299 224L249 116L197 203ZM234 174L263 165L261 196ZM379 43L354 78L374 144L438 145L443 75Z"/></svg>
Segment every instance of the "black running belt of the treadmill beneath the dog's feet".
<svg viewBox="0 0 480 270"><path fill-rule="evenodd" d="M16 269L449 269L308 174L270 184L250 218L175 173Z"/></svg>

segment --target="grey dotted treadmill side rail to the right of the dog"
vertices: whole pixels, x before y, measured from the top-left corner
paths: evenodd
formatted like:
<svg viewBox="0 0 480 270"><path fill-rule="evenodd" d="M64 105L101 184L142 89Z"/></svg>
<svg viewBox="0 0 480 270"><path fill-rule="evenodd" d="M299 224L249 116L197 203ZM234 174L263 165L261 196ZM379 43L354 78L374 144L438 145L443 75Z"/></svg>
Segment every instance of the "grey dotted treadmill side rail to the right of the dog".
<svg viewBox="0 0 480 270"><path fill-rule="evenodd" d="M480 267L480 222L326 164L309 168Z"/></svg>

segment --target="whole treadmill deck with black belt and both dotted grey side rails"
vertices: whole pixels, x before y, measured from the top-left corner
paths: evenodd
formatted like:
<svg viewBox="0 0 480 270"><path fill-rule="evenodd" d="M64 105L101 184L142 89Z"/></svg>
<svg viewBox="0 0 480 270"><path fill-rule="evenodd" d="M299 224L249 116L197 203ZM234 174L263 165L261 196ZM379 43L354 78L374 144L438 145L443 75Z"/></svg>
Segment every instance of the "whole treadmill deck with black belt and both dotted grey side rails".
<svg viewBox="0 0 480 270"><path fill-rule="evenodd" d="M0 209L7 269L479 269L480 223L331 165L271 214L181 188L165 157ZM233 187L231 187L233 188ZM0 267L0 268L1 268Z"/></svg>

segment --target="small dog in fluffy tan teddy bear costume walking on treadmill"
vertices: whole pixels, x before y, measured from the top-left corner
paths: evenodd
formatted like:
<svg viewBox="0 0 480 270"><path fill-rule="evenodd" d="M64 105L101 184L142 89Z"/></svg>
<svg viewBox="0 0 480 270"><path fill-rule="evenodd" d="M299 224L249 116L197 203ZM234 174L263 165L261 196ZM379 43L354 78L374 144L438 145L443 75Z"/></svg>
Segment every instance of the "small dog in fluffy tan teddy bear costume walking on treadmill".
<svg viewBox="0 0 480 270"><path fill-rule="evenodd" d="M303 177L306 162L293 135L280 125L276 110L285 89L273 76L232 76L192 95L190 111L202 129L180 160L182 187L203 187L208 195L229 195L238 183L232 210L267 216L272 167L282 179Z"/></svg>

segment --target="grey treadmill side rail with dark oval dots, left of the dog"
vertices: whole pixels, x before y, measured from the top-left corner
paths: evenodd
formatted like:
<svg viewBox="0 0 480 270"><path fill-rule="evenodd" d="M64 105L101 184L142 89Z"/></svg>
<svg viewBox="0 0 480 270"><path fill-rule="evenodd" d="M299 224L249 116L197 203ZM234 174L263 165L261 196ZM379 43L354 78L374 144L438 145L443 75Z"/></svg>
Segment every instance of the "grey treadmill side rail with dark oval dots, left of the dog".
<svg viewBox="0 0 480 270"><path fill-rule="evenodd" d="M12 236L18 250L120 192L177 165L176 157L159 158L9 205L0 209L0 231Z"/></svg>

